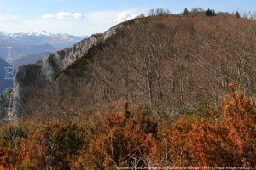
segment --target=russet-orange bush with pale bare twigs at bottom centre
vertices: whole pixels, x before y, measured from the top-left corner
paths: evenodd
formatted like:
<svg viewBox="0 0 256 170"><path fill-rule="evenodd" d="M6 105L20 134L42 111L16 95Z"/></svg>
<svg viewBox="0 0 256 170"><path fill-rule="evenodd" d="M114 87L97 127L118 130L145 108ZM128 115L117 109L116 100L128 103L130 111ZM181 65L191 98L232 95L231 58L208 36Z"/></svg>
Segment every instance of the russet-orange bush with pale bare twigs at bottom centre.
<svg viewBox="0 0 256 170"><path fill-rule="evenodd" d="M144 156L154 144L156 133L157 125L149 116L108 116L90 144L91 168L145 167Z"/></svg>

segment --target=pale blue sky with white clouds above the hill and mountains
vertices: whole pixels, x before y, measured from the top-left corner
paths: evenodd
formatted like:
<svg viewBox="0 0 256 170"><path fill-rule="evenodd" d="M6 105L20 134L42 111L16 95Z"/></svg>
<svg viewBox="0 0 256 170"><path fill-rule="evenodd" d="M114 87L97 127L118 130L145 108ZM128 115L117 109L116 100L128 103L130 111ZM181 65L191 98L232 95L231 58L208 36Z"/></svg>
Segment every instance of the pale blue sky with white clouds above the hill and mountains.
<svg viewBox="0 0 256 170"><path fill-rule="evenodd" d="M216 11L256 11L255 0L0 0L0 31L31 30L73 35L106 31L150 8L214 8Z"/></svg>

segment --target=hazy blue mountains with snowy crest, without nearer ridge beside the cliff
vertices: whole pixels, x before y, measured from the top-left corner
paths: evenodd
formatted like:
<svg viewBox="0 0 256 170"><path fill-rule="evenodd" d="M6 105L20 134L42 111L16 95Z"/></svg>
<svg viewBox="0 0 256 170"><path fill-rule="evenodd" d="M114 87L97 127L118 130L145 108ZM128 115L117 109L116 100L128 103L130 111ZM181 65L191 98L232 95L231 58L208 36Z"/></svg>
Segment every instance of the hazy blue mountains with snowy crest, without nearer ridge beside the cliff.
<svg viewBox="0 0 256 170"><path fill-rule="evenodd" d="M9 62L31 54L54 52L70 48L84 37L68 34L53 34L45 31L25 33L5 33L0 31L0 58L7 59L8 48L11 48L12 59Z"/></svg>

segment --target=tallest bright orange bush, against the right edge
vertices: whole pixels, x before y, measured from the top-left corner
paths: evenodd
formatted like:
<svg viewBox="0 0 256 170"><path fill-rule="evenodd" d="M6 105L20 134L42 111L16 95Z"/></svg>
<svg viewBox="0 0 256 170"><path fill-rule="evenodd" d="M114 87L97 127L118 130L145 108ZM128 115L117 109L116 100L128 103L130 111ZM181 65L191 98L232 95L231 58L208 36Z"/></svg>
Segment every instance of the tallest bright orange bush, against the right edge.
<svg viewBox="0 0 256 170"><path fill-rule="evenodd" d="M224 101L222 119L199 120L187 147L195 166L253 166L256 164L255 105L241 93Z"/></svg>

